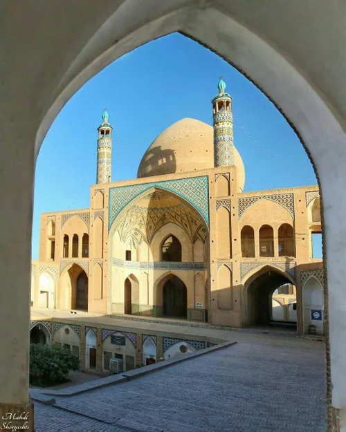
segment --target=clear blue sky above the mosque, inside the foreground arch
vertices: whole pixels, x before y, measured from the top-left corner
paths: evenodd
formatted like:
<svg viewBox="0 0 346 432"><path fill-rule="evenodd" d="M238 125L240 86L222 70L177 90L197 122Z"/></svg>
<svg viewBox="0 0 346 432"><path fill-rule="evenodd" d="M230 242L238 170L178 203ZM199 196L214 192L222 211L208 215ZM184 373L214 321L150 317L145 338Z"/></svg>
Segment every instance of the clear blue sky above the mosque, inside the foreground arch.
<svg viewBox="0 0 346 432"><path fill-rule="evenodd" d="M170 124L186 117L212 124L210 101L220 75L233 97L244 191L316 185L297 135L266 96L223 59L174 33L110 64L57 115L37 159L33 259L41 213L89 207L104 108L113 126L112 181L136 178L143 153Z"/></svg>

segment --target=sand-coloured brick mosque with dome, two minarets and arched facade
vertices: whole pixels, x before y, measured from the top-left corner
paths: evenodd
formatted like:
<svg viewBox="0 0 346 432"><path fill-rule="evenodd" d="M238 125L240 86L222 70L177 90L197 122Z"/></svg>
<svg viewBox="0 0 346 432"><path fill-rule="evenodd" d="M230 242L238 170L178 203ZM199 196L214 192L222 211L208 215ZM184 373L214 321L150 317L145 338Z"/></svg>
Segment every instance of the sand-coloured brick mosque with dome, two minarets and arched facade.
<svg viewBox="0 0 346 432"><path fill-rule="evenodd" d="M111 182L104 111L90 207L41 216L33 308L236 328L277 320L323 334L318 186L244 192L223 79L212 113L213 126L172 124L136 179Z"/></svg>

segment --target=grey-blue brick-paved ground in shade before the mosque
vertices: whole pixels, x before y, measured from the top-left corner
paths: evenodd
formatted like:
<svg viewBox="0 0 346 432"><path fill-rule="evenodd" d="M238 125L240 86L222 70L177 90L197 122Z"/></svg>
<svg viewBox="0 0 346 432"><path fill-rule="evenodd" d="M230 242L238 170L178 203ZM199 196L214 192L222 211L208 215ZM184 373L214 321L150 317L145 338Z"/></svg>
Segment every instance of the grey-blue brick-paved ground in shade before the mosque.
<svg viewBox="0 0 346 432"><path fill-rule="evenodd" d="M37 432L326 431L322 342L230 333L238 343L229 348L130 382L55 396L68 411L35 403ZM129 429L130 421L141 426Z"/></svg>

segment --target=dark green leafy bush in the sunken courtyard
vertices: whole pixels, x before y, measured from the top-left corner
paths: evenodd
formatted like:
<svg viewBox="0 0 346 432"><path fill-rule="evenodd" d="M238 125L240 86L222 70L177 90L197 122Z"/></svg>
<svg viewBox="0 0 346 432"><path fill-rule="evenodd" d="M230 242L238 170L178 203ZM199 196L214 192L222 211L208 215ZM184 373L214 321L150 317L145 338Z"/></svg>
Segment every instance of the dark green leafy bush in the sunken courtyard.
<svg viewBox="0 0 346 432"><path fill-rule="evenodd" d="M29 382L32 386L54 386L68 381L69 370L77 370L80 359L58 345L30 345Z"/></svg>

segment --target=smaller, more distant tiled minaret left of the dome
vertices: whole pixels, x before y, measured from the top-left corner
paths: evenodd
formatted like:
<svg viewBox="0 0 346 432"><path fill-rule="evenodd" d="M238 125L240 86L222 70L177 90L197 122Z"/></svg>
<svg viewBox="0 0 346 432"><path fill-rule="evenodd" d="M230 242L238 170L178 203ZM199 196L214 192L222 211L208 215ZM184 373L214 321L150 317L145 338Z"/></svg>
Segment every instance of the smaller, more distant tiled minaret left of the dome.
<svg viewBox="0 0 346 432"><path fill-rule="evenodd" d="M98 126L98 169L96 184L111 182L111 132L112 126L108 122L108 113L104 109L102 124Z"/></svg>

